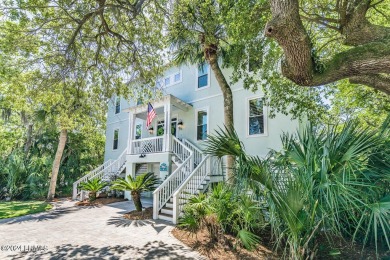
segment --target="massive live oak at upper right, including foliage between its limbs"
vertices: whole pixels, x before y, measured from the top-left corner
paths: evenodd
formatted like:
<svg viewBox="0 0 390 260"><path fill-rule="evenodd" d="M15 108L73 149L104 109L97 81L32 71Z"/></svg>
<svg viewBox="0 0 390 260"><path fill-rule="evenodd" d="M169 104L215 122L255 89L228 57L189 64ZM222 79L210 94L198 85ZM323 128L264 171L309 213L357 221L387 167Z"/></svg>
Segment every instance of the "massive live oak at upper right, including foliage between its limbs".
<svg viewBox="0 0 390 260"><path fill-rule="evenodd" d="M342 79L390 94L390 6L383 0L271 0L265 36L283 49L299 86Z"/></svg>

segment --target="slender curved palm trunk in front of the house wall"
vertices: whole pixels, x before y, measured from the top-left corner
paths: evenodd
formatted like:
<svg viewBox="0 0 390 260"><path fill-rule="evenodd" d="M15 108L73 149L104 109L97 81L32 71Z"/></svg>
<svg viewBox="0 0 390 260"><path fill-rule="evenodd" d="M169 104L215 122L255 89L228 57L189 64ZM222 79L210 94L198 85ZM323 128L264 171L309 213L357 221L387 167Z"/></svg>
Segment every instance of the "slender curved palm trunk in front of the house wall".
<svg viewBox="0 0 390 260"><path fill-rule="evenodd" d="M222 73L221 68L218 64L218 56L213 53L208 56L210 67L214 72L215 78L217 79L218 85L222 91L223 95L223 105L224 105L224 122L226 128L234 129L234 118L233 118L233 93L232 90L226 81L225 76ZM234 157L227 156L226 161L226 177L228 180L232 180L233 176L233 167L234 167Z"/></svg>

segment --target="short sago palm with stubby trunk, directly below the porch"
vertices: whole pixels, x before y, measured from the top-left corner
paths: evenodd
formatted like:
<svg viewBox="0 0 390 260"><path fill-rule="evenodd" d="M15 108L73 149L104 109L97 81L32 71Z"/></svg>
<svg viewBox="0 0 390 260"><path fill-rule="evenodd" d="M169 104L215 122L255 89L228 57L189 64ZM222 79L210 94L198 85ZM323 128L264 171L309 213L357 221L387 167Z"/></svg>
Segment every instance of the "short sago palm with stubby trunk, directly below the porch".
<svg viewBox="0 0 390 260"><path fill-rule="evenodd" d="M144 173L133 178L131 175L125 179L119 179L113 182L111 186L114 190L130 191L135 208L142 211L141 192L153 191L158 185L159 180L153 172Z"/></svg>

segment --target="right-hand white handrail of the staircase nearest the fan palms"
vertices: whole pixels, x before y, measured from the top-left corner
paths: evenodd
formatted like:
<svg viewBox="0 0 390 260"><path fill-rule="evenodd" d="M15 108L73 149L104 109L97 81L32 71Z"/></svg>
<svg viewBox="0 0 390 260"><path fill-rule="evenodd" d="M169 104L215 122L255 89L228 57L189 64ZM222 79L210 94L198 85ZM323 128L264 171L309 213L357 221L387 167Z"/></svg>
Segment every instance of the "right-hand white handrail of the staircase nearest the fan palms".
<svg viewBox="0 0 390 260"><path fill-rule="evenodd" d="M185 189L190 189L190 195L195 194L195 191L203 183L203 181L210 175L210 160L211 156L207 155L195 168L195 170L188 176L188 178L176 189L173 194L173 223L176 224L179 214L182 212L184 202L186 199L181 198L184 195Z"/></svg>

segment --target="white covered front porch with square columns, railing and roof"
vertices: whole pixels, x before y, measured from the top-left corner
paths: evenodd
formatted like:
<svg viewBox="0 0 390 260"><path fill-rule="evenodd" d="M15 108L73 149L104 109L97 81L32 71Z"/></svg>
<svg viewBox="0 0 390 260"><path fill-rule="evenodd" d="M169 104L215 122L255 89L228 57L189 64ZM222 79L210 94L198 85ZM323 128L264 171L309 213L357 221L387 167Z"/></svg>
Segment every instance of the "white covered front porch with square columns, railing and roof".
<svg viewBox="0 0 390 260"><path fill-rule="evenodd" d="M187 112L191 105L172 95L166 95L160 100L151 103L156 117L152 125L146 128L146 118L148 105L138 105L125 110L129 113L129 137L128 154L144 156L151 153L171 152L173 149L173 137L176 136L182 119L178 112ZM142 120L141 132L139 134L139 125L136 122ZM169 123L166 123L169 122ZM142 158L142 157L140 157Z"/></svg>

